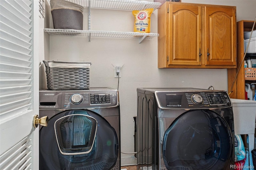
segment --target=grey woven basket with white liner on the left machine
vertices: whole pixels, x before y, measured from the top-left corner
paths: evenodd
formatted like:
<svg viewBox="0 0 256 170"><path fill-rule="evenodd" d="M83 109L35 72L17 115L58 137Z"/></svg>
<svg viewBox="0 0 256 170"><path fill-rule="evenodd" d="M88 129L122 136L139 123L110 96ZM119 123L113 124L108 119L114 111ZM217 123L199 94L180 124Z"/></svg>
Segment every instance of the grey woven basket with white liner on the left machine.
<svg viewBox="0 0 256 170"><path fill-rule="evenodd" d="M47 88L50 90L86 90L90 88L91 63L43 61Z"/></svg>

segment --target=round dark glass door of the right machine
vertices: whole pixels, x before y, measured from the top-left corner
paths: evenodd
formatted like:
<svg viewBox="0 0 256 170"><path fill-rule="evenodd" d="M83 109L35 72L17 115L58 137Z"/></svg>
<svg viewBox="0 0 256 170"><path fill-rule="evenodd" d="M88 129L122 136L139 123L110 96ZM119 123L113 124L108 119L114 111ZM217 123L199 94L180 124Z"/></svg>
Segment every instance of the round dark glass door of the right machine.
<svg viewBox="0 0 256 170"><path fill-rule="evenodd" d="M214 111L188 111L164 134L164 164L168 170L229 169L233 140L230 127Z"/></svg>

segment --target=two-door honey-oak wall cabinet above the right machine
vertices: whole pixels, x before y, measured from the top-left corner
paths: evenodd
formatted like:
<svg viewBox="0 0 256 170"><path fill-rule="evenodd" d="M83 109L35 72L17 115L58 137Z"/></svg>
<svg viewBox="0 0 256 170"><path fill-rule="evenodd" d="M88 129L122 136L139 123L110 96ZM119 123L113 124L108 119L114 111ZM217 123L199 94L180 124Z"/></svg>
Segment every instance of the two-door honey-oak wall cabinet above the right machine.
<svg viewBox="0 0 256 170"><path fill-rule="evenodd" d="M236 7L165 2L158 68L236 68Z"/></svg>

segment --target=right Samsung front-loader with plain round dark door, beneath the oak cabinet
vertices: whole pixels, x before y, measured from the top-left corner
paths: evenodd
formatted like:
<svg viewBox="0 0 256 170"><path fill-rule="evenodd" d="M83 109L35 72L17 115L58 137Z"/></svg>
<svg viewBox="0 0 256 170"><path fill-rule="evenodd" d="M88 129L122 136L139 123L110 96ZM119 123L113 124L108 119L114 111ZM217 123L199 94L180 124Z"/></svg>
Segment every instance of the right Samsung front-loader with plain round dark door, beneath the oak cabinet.
<svg viewBox="0 0 256 170"><path fill-rule="evenodd" d="M226 91L137 89L138 170L228 170L234 119Z"/></svg>

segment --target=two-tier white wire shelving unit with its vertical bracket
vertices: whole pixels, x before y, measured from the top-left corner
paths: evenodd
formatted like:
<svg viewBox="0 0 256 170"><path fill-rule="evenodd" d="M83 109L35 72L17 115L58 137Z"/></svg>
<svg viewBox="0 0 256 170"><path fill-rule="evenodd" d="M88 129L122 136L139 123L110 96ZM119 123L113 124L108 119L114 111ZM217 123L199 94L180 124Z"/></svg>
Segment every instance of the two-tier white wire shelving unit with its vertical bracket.
<svg viewBox="0 0 256 170"><path fill-rule="evenodd" d="M144 39L152 39L159 36L155 33L140 33L140 32L109 32L109 31L92 31L90 30L90 8L104 8L117 10L144 10L148 8L157 9L160 2L148 2L137 0L67 0L74 2L83 7L88 7L88 30L66 30L66 29L51 29L45 28L44 31L49 35L55 36L88 36L89 41L92 37L112 37L112 38L138 38L139 43Z"/></svg>

